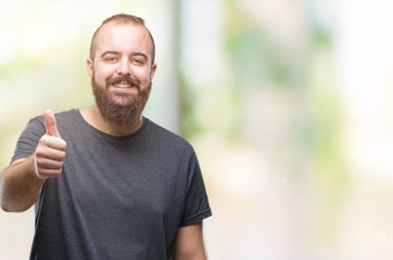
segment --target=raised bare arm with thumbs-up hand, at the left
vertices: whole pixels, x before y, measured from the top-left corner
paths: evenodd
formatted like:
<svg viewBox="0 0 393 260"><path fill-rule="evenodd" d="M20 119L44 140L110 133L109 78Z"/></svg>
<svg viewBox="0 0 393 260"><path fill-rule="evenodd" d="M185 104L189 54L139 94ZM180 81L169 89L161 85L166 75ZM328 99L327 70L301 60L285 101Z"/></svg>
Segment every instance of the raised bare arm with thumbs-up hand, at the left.
<svg viewBox="0 0 393 260"><path fill-rule="evenodd" d="M13 161L0 176L0 204L4 211L27 210L37 200L45 181L62 171L66 143L60 138L53 113L46 110L45 118L47 133L35 153Z"/></svg>

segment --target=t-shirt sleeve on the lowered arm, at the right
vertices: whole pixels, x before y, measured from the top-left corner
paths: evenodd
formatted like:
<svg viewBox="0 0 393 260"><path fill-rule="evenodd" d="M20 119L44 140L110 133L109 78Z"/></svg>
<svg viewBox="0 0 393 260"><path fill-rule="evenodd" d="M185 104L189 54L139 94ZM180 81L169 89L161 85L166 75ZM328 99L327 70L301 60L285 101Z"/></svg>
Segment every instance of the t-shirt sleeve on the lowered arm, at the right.
<svg viewBox="0 0 393 260"><path fill-rule="evenodd" d="M211 216L212 210L208 204L201 168L196 155L193 153L189 165L186 204L180 226L194 224Z"/></svg>

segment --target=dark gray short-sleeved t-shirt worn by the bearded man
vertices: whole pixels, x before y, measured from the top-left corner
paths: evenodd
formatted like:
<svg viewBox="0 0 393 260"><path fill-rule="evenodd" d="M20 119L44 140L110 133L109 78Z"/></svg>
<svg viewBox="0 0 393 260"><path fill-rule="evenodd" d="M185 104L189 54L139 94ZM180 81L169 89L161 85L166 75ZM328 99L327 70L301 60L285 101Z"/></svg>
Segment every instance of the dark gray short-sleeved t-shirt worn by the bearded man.
<svg viewBox="0 0 393 260"><path fill-rule="evenodd" d="M183 139L147 118L136 133L112 136L78 109L55 117L66 158L36 202L30 259L173 259L178 227L212 214ZM31 155L45 132L43 117L31 119L12 160Z"/></svg>

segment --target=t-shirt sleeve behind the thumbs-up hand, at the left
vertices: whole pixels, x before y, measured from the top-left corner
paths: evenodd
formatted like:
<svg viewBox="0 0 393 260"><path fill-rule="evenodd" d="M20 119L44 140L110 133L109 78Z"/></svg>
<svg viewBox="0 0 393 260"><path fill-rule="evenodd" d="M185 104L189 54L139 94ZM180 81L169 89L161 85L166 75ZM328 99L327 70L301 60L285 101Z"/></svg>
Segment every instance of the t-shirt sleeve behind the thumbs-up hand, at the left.
<svg viewBox="0 0 393 260"><path fill-rule="evenodd" d="M17 140L16 148L11 162L16 159L27 158L30 156L36 151L38 141L45 133L46 128L42 116L29 120L25 130Z"/></svg>

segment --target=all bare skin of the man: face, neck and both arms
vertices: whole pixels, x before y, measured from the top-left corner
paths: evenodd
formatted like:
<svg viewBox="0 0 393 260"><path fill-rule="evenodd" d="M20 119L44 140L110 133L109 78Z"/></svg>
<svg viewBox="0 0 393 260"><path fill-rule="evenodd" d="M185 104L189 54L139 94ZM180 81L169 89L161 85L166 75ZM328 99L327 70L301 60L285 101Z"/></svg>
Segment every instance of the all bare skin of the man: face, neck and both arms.
<svg viewBox="0 0 393 260"><path fill-rule="evenodd" d="M154 77L156 64L151 64L152 42L145 28L109 23L101 28L96 40L96 54L93 58L87 60L87 68L90 77L94 74L100 88L105 88L107 78L118 76L137 78L141 88L149 86ZM136 88L119 88L114 84L110 86L107 91L118 104L138 93ZM91 126L117 136L131 134L143 123L142 117L131 126L105 121L97 104L81 109L80 113ZM66 142L59 134L53 113L47 109L43 116L47 133L40 139L36 152L28 158L13 161L0 176L0 204L5 211L27 210L37 200L45 181L61 174L66 156ZM202 222L179 227L175 248L176 260L206 259Z"/></svg>

